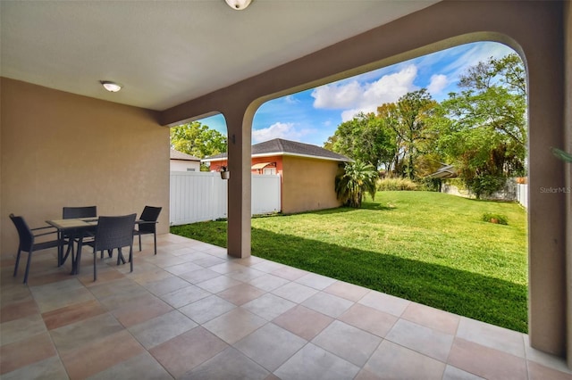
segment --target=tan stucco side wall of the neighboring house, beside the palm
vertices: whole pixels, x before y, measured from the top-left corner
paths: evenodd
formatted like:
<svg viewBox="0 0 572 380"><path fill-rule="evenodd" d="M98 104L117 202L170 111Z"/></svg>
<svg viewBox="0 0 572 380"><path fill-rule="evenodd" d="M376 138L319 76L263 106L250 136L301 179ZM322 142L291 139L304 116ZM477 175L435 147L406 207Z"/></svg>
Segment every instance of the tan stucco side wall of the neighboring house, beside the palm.
<svg viewBox="0 0 572 380"><path fill-rule="evenodd" d="M334 188L338 162L284 156L282 158L282 212L339 207Z"/></svg>

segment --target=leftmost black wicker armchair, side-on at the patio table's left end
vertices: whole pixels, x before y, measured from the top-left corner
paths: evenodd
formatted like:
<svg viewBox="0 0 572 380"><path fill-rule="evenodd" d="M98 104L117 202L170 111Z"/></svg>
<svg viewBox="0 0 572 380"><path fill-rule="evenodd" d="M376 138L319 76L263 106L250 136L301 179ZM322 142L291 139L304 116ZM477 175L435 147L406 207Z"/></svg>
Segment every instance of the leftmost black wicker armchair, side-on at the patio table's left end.
<svg viewBox="0 0 572 380"><path fill-rule="evenodd" d="M29 266L32 260L32 253L36 251L45 250L47 248L54 248L59 247L60 240L49 240L45 242L36 243L36 238L38 236L46 236L55 234L57 236L57 231L54 227L38 227L38 228L30 228L22 217L14 216L14 214L10 214L10 219L12 219L16 230L18 230L18 236L20 237L20 244L18 244L18 255L16 256L16 264L14 265L14 274L13 276L16 277L18 274L18 265L20 264L20 255L21 252L28 252L28 262L26 263L26 273L24 274L24 284L28 284L28 275L29 275ZM40 234L34 235L34 231L41 231L46 230L48 228L52 228L52 231L43 232Z"/></svg>

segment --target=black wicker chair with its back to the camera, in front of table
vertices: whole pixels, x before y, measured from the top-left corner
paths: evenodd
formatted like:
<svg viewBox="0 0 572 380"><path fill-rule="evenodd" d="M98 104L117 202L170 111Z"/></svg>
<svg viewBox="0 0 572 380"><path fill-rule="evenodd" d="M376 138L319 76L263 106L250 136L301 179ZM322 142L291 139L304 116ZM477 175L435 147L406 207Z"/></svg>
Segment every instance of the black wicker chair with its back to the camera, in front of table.
<svg viewBox="0 0 572 380"><path fill-rule="evenodd" d="M118 250L117 264L120 260L125 262L122 248L129 247L130 271L133 271L133 229L137 214L123 215L118 217L99 217L97 221L96 235L93 241L83 244L93 247L93 280L97 280L97 252L111 252ZM80 265L81 246L78 247L78 263Z"/></svg>

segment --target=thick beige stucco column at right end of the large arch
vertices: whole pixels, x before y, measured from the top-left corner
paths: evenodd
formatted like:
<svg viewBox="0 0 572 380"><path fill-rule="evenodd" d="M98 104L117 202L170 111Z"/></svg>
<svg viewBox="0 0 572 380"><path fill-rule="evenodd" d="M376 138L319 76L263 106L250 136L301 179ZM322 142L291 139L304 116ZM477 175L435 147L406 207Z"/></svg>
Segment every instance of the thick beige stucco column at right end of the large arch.
<svg viewBox="0 0 572 380"><path fill-rule="evenodd" d="M542 23L543 33L518 39L528 74L528 335L532 347L565 356L565 164L551 153L564 138L564 20L562 8L532 5L530 24Z"/></svg>

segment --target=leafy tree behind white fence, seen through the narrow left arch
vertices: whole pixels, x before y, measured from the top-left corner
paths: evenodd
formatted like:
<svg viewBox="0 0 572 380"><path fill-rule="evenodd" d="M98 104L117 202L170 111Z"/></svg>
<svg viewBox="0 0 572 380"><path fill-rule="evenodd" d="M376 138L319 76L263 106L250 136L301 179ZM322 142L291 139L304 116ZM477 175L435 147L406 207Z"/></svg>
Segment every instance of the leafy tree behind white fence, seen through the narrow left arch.
<svg viewBox="0 0 572 380"><path fill-rule="evenodd" d="M215 129L208 128L200 121L192 121L171 128L171 146L173 149L205 158L227 151L227 138Z"/></svg>

